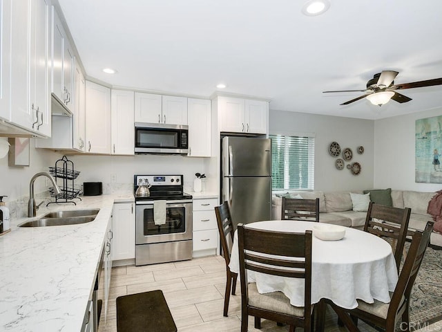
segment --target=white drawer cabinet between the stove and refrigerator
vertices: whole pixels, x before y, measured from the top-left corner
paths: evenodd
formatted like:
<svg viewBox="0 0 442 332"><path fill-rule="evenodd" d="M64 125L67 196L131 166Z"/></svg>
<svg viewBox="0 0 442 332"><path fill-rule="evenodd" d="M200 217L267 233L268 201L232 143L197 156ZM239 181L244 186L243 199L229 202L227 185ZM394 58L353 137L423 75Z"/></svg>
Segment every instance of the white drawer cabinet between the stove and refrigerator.
<svg viewBox="0 0 442 332"><path fill-rule="evenodd" d="M218 252L217 205L218 199L193 199L193 257L216 255Z"/></svg>

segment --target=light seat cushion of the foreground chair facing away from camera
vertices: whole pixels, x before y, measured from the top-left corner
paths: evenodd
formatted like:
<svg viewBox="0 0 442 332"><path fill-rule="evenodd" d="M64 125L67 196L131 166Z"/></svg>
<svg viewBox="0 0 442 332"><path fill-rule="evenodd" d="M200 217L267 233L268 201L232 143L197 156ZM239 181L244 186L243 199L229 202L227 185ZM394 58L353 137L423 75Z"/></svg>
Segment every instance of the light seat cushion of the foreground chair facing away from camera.
<svg viewBox="0 0 442 332"><path fill-rule="evenodd" d="M249 284L249 306L262 308L277 313L285 313L296 317L304 317L304 307L292 306L290 300L282 292L260 294L256 283Z"/></svg>

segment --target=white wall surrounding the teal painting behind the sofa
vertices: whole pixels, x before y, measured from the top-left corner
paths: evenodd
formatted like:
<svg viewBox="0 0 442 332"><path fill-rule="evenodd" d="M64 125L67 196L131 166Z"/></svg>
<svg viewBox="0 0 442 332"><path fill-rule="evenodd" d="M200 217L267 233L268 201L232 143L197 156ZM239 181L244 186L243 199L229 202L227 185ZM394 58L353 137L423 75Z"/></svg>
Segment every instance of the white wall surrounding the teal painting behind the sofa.
<svg viewBox="0 0 442 332"><path fill-rule="evenodd" d="M383 120L374 124L374 187L434 192L442 184L416 183L415 134L416 120L441 116L442 108L422 111ZM431 163L432 160L429 160Z"/></svg>

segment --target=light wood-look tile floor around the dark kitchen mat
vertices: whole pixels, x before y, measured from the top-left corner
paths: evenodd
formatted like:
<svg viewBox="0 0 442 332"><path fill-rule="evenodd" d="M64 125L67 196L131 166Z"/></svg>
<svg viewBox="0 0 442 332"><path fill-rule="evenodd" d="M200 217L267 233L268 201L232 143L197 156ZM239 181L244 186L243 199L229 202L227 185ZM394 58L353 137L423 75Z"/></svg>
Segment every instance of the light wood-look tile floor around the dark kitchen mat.
<svg viewBox="0 0 442 332"><path fill-rule="evenodd" d="M238 280L237 295L230 299L229 317L223 317L225 282L225 263L220 256L150 266L115 267L112 269L107 320L104 320L103 311L99 332L117 331L117 297L156 289L163 291L178 332L238 332L241 326L240 282ZM332 313L328 316L325 331L347 331L337 326ZM262 329L254 329L253 317L249 317L249 332L288 331L288 326L277 326L268 320L262 320L261 325ZM376 331L363 323L359 327L363 332ZM419 331L442 331L442 322Z"/></svg>

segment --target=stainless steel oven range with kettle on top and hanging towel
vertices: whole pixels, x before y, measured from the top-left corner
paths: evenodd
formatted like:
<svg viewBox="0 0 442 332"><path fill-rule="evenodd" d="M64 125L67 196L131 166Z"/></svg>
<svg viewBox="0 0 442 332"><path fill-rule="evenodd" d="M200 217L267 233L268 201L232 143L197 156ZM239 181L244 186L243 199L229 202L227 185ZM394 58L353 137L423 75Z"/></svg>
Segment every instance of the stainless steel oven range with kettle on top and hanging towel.
<svg viewBox="0 0 442 332"><path fill-rule="evenodd" d="M182 175L135 175L134 192L149 183L149 196L135 194L135 265L192 258L192 196ZM155 224L154 202L165 201L166 221Z"/></svg>

